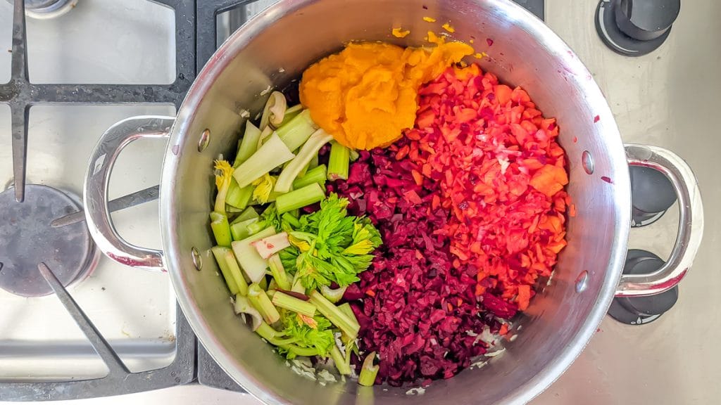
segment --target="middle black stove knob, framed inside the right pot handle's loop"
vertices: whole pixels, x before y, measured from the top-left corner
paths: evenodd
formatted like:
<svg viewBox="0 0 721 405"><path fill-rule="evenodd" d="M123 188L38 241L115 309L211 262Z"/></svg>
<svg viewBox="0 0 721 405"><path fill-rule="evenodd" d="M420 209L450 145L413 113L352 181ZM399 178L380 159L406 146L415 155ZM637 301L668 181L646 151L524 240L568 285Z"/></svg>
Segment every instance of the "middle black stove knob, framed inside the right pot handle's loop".
<svg viewBox="0 0 721 405"><path fill-rule="evenodd" d="M630 166L631 226L647 226L666 213L676 203L673 184L665 174L644 166Z"/></svg>

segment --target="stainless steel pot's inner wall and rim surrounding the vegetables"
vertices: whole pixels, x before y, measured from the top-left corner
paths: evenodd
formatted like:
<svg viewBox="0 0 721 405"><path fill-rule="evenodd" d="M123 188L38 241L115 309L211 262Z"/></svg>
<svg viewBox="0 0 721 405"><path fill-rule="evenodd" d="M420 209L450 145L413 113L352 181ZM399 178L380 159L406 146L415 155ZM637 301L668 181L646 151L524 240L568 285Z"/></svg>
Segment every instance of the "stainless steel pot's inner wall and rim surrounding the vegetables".
<svg viewBox="0 0 721 405"><path fill-rule="evenodd" d="M611 112L590 74L542 22L510 1L281 3L236 32L208 63L180 110L165 158L164 248L179 301L201 341L239 383L272 403L490 404L530 399L567 367L595 331L625 254L627 166ZM424 16L438 22L424 22ZM426 32L441 31L443 22L451 22L457 38L474 38L477 51L488 55L483 68L523 86L545 115L557 117L569 160L568 191L578 212L568 223L567 249L550 285L517 320L523 324L518 338L504 342L505 353L484 368L436 381L423 396L407 396L407 388L363 390L354 382L321 386L291 372L234 316L209 252L213 159L234 150L244 121L239 112L260 112L265 102L260 93L267 86L285 86L348 40L422 45ZM410 29L411 34L402 40L392 37L392 27ZM205 128L211 141L199 153L198 138ZM583 151L593 157L593 174L581 166ZM193 267L193 247L202 252L201 271ZM575 280L583 271L588 280L578 292Z"/></svg>

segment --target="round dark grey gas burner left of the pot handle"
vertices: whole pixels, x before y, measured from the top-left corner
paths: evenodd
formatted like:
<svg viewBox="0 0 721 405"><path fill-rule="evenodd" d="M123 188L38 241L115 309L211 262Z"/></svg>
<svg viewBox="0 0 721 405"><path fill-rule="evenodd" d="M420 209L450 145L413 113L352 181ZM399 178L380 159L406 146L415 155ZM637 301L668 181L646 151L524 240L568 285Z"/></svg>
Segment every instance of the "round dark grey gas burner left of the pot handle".
<svg viewBox="0 0 721 405"><path fill-rule="evenodd" d="M12 188L0 193L0 288L25 297L53 293L37 270L45 262L63 285L83 280L99 257L85 223L52 228L53 219L80 210L65 193L40 184L25 187L15 202Z"/></svg>

